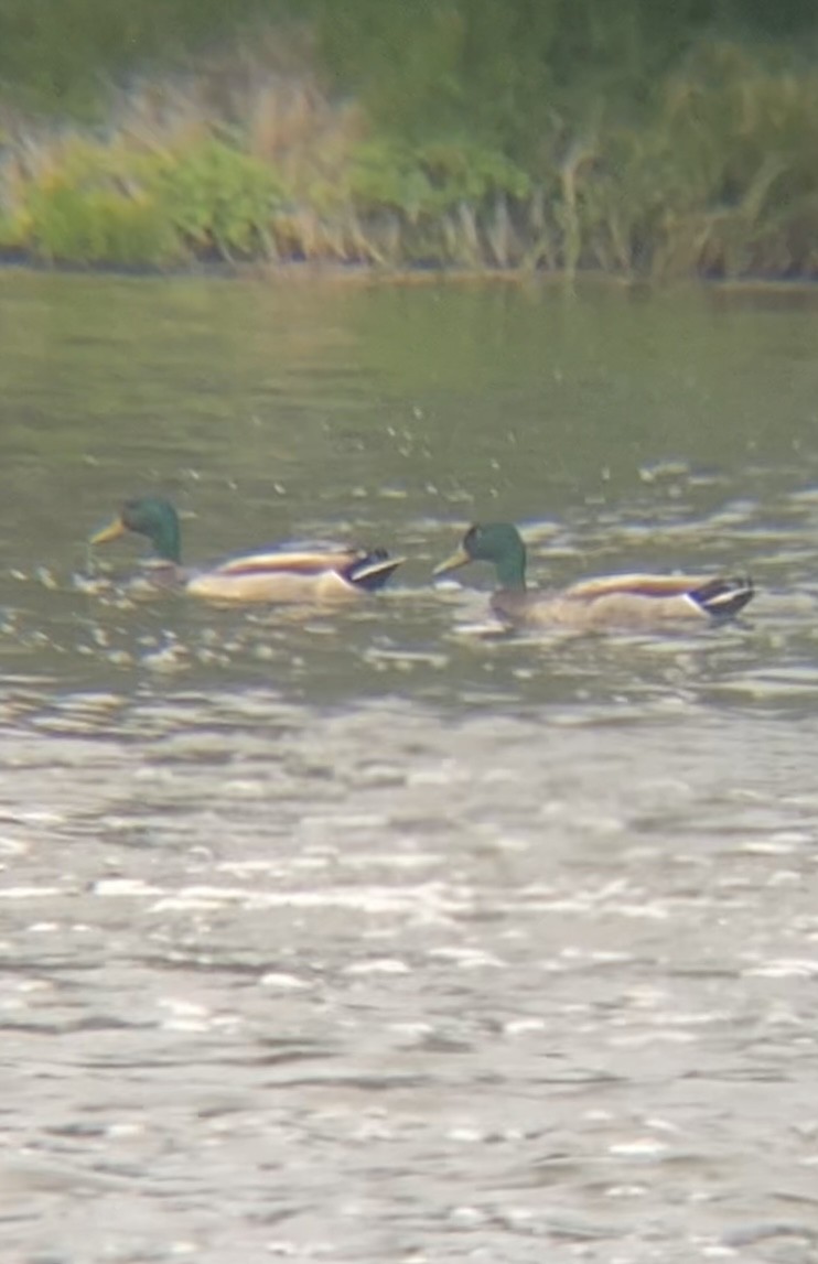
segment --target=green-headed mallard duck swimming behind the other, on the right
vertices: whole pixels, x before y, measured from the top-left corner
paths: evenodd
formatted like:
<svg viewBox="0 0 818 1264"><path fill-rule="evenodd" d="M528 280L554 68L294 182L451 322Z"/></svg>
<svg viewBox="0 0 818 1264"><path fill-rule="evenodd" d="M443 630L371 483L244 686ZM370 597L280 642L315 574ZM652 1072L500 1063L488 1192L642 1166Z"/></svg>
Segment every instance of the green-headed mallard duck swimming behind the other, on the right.
<svg viewBox="0 0 818 1264"><path fill-rule="evenodd" d="M460 547L435 568L435 575L470 561L497 568L499 588L492 609L517 627L651 627L727 619L752 598L748 578L703 575L606 575L558 592L526 588L526 546L510 522L469 527Z"/></svg>

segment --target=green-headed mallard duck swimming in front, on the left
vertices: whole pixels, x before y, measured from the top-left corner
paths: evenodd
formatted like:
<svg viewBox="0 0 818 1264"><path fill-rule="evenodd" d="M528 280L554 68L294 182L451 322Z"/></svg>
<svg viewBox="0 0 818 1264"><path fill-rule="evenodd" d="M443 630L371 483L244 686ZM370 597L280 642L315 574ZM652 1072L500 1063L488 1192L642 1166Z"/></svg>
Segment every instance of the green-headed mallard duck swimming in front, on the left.
<svg viewBox="0 0 818 1264"><path fill-rule="evenodd" d="M384 549L340 545L271 545L226 557L204 570L181 564L181 531L176 509L159 497L128 501L120 513L90 537L107 544L133 531L153 545L145 578L158 588L183 588L191 597L215 602L331 600L382 588L403 561Z"/></svg>

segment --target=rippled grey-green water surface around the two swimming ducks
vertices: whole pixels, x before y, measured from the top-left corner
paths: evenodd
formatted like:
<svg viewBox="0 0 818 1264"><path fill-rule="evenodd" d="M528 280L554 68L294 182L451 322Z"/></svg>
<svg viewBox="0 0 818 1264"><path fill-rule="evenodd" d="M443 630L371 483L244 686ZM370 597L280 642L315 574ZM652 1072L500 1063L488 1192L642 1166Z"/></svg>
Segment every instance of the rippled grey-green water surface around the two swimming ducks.
<svg viewBox="0 0 818 1264"><path fill-rule="evenodd" d="M0 1243L27 1264L818 1259L818 307L0 276ZM89 585L408 555L344 611ZM750 569L697 635L478 635ZM126 573L138 547L111 546Z"/></svg>

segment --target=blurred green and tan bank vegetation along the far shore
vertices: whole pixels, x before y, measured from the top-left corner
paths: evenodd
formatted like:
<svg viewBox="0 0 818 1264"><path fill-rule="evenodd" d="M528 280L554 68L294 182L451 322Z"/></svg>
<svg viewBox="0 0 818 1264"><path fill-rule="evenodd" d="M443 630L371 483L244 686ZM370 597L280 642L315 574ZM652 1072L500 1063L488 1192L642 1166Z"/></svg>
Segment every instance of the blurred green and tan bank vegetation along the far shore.
<svg viewBox="0 0 818 1264"><path fill-rule="evenodd" d="M818 274L807 0L4 0L0 248Z"/></svg>

